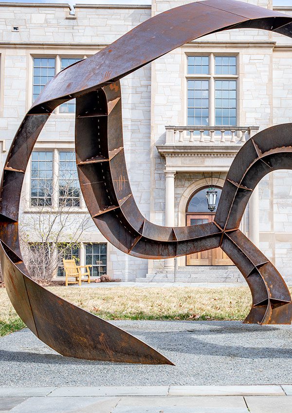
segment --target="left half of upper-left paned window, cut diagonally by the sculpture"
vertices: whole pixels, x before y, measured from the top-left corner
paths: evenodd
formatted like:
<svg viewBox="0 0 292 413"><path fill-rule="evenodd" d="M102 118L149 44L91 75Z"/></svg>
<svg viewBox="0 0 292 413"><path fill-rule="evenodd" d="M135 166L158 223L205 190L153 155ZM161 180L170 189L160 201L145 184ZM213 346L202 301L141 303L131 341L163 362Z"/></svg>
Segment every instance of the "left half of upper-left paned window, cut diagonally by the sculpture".
<svg viewBox="0 0 292 413"><path fill-rule="evenodd" d="M55 76L54 58L34 58L33 101L49 80Z"/></svg>

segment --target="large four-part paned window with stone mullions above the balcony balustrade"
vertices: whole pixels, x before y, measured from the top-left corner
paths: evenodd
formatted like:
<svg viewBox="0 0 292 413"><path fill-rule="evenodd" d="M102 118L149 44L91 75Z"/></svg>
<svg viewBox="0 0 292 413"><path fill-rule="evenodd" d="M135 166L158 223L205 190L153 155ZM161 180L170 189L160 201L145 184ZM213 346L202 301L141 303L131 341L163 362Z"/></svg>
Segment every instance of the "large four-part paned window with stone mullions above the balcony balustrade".
<svg viewBox="0 0 292 413"><path fill-rule="evenodd" d="M235 56L188 56L187 78L188 126L237 125Z"/></svg>

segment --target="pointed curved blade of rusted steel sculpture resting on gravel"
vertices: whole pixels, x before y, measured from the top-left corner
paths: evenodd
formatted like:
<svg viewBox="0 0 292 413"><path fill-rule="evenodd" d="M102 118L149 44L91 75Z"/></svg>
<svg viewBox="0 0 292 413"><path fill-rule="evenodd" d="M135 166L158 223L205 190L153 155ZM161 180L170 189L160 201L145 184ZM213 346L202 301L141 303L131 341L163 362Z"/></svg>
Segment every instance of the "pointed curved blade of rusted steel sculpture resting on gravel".
<svg viewBox="0 0 292 413"><path fill-rule="evenodd" d="M86 360L173 365L139 338L37 284L18 269L5 249L0 242L9 298L33 333L56 352Z"/></svg>

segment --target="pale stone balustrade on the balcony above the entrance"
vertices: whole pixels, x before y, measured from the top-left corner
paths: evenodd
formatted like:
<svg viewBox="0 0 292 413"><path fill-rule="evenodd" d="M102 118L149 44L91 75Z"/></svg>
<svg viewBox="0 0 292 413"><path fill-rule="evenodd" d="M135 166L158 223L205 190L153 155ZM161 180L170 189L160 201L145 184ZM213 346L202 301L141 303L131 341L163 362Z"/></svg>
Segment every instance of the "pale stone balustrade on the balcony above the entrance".
<svg viewBox="0 0 292 413"><path fill-rule="evenodd" d="M258 126L165 126L166 144L241 144L258 132Z"/></svg>

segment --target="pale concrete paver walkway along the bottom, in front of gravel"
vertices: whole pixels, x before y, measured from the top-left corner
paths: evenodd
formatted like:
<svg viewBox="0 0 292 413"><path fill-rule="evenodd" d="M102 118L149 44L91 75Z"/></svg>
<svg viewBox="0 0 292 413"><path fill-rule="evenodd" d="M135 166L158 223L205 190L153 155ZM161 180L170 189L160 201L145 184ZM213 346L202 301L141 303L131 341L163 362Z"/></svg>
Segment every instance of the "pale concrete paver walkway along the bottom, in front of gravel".
<svg viewBox="0 0 292 413"><path fill-rule="evenodd" d="M1 413L291 413L292 386L1 388Z"/></svg>

